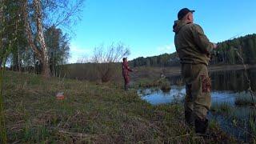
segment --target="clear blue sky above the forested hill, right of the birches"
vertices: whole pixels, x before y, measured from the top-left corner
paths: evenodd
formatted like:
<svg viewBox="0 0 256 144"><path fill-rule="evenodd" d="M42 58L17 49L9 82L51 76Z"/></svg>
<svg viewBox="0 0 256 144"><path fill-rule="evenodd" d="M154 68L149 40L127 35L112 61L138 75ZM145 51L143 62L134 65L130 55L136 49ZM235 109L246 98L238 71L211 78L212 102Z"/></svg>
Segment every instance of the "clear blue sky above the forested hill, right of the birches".
<svg viewBox="0 0 256 144"><path fill-rule="evenodd" d="M69 62L112 42L130 46L128 59L173 53L172 26L183 7L195 10L194 22L211 42L256 33L255 0L86 0L82 20L74 27Z"/></svg>

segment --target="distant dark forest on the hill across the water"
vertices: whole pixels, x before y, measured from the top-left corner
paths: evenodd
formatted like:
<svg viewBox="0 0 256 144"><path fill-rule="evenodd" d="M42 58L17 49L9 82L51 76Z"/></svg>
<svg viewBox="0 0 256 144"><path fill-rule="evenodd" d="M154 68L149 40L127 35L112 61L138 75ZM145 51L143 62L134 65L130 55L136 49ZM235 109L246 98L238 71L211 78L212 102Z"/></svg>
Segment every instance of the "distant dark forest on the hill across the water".
<svg viewBox="0 0 256 144"><path fill-rule="evenodd" d="M256 34L248 34L224 42L218 42L218 49L210 54L210 64L246 64L256 63ZM135 58L131 66L179 66L178 54L161 54L154 57Z"/></svg>

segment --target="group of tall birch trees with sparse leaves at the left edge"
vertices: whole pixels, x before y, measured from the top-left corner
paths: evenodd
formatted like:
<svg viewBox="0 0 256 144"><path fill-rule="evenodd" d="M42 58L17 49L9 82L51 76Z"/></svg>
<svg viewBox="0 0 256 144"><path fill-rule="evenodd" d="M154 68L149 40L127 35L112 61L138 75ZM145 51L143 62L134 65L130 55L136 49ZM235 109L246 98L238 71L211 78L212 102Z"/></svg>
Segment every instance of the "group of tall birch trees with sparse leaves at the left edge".
<svg viewBox="0 0 256 144"><path fill-rule="evenodd" d="M70 26L84 0L0 0L0 65L57 74L70 52Z"/></svg>

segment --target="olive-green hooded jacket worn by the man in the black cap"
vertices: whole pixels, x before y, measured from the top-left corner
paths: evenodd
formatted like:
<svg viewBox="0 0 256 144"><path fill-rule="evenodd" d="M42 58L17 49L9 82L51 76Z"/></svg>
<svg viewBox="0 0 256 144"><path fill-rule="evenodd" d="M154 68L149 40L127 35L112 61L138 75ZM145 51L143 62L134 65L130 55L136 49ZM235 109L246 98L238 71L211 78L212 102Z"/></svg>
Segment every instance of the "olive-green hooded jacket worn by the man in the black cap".
<svg viewBox="0 0 256 144"><path fill-rule="evenodd" d="M208 65L213 43L204 34L201 26L183 21L174 22L174 43L181 63Z"/></svg>

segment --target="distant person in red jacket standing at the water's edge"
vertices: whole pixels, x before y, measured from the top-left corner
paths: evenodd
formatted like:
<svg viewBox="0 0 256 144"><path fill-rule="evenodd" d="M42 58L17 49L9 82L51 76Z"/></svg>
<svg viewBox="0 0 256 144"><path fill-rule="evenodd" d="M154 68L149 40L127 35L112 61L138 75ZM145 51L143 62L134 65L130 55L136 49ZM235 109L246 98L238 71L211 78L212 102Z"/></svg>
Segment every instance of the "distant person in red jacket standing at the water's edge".
<svg viewBox="0 0 256 144"><path fill-rule="evenodd" d="M125 90L128 90L130 82L129 72L132 71L133 70L128 66L127 58L122 58L122 76L125 80Z"/></svg>

